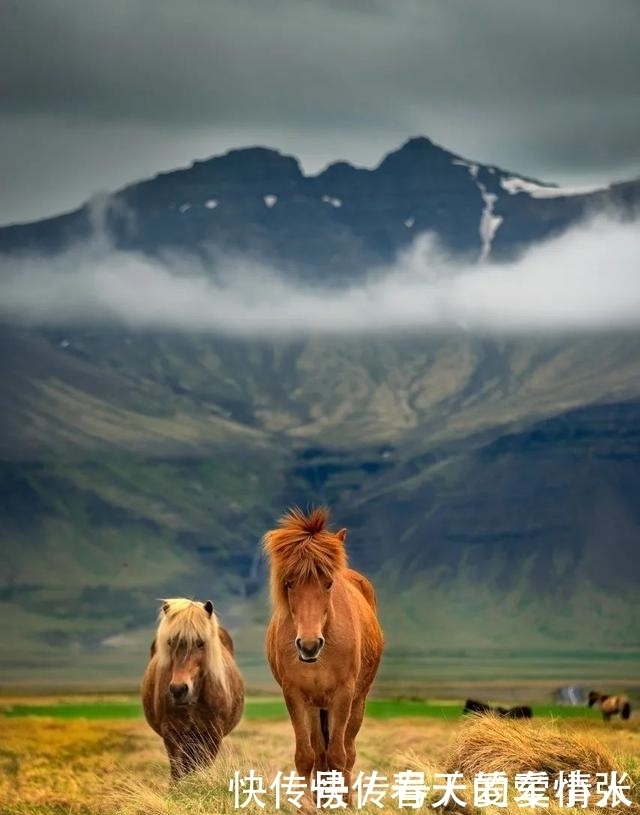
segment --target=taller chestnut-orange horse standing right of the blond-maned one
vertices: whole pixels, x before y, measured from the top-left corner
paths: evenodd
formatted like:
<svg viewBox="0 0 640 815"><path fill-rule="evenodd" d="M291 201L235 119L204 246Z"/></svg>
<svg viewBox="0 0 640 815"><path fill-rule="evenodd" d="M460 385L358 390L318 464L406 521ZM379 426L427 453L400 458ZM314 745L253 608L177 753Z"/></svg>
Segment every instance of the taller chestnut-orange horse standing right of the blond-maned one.
<svg viewBox="0 0 640 815"><path fill-rule="evenodd" d="M346 529L327 529L328 510L292 509L263 546L273 616L266 635L296 739L295 764L311 789L314 773L342 773L351 800L355 739L384 639L373 586L348 568Z"/></svg>

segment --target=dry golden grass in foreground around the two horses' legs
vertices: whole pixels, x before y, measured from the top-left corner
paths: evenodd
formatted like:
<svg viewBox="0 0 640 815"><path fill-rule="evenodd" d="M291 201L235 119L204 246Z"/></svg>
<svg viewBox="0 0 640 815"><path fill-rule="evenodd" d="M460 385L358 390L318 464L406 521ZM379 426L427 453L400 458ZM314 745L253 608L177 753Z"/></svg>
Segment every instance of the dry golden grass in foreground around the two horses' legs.
<svg viewBox="0 0 640 815"><path fill-rule="evenodd" d="M503 770L512 778L515 772L536 769L552 774L559 769L589 772L615 768L627 771L636 788L627 793L634 807L618 806L613 811L637 813L639 767L640 720L634 718L609 726L593 720L367 719L358 740L356 774L377 770L392 783L394 773L418 770L425 773L426 783L431 785L441 782L436 773L460 770L468 784L469 801L460 811L474 812L469 779L479 770ZM226 740L212 768L183 780L170 792L164 748L142 721L0 717L2 815L276 812L271 790L263 796L264 809L256 805L244 810L234 808L229 781L236 770L245 775L250 769L264 778L267 787L279 770L294 770L288 721L243 721ZM440 796L441 792L429 792L421 811L437 812L432 805ZM383 809L369 804L362 811L401 811L390 791L383 803ZM292 806L283 809L295 811ZM545 810L521 808L513 802L507 808L482 810L492 811L513 815ZM567 809L561 810L552 800L546 811L559 815ZM611 810L592 807L579 811Z"/></svg>

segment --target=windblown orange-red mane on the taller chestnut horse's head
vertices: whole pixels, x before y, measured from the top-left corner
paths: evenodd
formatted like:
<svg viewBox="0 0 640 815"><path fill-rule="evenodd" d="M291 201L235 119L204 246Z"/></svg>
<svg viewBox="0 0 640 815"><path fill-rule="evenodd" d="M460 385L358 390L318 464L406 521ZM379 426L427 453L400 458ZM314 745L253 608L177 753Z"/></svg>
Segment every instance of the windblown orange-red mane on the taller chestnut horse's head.
<svg viewBox="0 0 640 815"><path fill-rule="evenodd" d="M293 507L280 518L276 529L263 536L263 550L271 564L274 606L288 607L286 582L333 579L347 569L344 535L327 529L328 520L327 507L316 507L309 514Z"/></svg>

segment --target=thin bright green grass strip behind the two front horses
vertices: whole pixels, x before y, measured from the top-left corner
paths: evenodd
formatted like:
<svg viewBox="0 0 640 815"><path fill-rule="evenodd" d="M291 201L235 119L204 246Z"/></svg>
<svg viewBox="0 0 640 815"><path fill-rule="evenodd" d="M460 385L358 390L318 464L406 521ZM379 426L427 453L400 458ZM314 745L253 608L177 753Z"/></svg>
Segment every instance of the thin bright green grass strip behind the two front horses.
<svg viewBox="0 0 640 815"><path fill-rule="evenodd" d="M430 702L419 699L370 699L367 716L373 719L426 717L431 719L458 719L462 702ZM563 705L533 705L534 717L600 718L597 710ZM12 704L0 708L0 715L8 718L46 716L56 719L136 719L142 716L140 702L60 701L53 704ZM245 718L251 720L286 719L288 716L281 699L247 699Z"/></svg>

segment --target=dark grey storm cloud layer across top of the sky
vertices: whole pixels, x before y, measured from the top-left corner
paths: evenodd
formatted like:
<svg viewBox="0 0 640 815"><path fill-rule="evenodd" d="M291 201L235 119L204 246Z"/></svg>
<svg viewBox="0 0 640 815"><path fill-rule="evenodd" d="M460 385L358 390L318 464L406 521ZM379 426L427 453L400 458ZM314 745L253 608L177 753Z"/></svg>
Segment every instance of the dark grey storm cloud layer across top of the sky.
<svg viewBox="0 0 640 815"><path fill-rule="evenodd" d="M635 0L21 0L5 21L13 111L322 124L638 99Z"/></svg>

